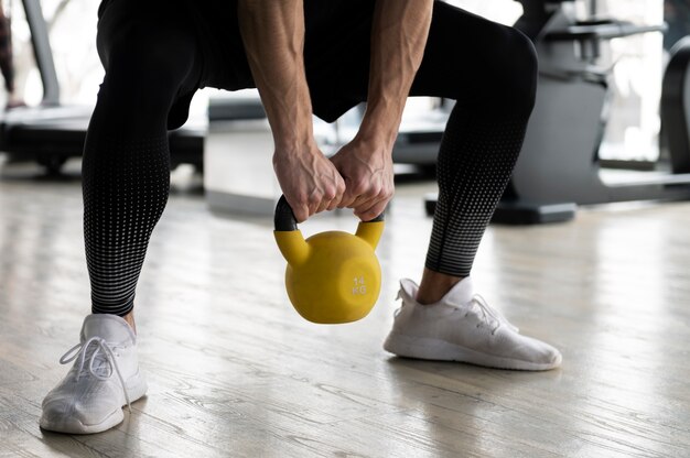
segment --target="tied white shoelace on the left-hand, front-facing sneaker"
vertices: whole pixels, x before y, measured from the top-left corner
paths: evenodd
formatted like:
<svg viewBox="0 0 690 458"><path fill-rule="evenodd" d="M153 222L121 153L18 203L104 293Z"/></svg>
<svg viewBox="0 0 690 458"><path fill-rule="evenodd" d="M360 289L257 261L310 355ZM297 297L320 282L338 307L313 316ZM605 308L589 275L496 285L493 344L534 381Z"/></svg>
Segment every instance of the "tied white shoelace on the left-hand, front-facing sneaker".
<svg viewBox="0 0 690 458"><path fill-rule="evenodd" d="M129 395L127 394L127 389L125 388L125 379L120 373L120 368L118 367L116 353L112 351L116 346L109 346L108 342L98 336L94 336L90 339L79 342L72 347L65 355L60 358L61 364L67 364L75 359L79 358L79 370L77 371L78 381L82 374L88 373L100 381L106 381L112 377L115 372L120 380L120 385L122 386L122 392L125 393L125 399L127 400L127 407L131 413L132 407L129 402ZM90 352L90 356L88 355ZM86 359L88 358L88 364L86 363ZM95 363L98 362L96 366ZM110 366L110 371L107 375L101 375L98 372L104 372L103 368L105 364Z"/></svg>

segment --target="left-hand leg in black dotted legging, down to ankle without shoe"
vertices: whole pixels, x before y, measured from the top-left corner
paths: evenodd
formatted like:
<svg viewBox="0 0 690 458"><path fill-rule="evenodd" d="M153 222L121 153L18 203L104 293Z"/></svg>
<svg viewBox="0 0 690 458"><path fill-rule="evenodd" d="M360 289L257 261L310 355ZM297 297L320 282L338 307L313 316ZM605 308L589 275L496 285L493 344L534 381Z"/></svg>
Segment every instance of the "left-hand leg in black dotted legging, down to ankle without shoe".
<svg viewBox="0 0 690 458"><path fill-rule="evenodd" d="M150 30L143 21L123 26L122 14L107 11L99 24L106 76L83 163L91 312L121 317L133 308L149 237L168 200L168 113L195 84L194 37L175 17L159 15Z"/></svg>

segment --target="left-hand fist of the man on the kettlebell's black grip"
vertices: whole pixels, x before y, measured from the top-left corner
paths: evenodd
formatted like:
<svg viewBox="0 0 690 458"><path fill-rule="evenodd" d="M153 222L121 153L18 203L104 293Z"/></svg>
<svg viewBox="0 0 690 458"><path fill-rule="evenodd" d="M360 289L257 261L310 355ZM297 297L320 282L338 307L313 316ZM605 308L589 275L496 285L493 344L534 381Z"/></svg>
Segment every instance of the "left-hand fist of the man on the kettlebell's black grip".
<svg viewBox="0 0 690 458"><path fill-rule="evenodd" d="M345 181L315 143L302 149L277 149L273 168L298 222L337 208Z"/></svg>

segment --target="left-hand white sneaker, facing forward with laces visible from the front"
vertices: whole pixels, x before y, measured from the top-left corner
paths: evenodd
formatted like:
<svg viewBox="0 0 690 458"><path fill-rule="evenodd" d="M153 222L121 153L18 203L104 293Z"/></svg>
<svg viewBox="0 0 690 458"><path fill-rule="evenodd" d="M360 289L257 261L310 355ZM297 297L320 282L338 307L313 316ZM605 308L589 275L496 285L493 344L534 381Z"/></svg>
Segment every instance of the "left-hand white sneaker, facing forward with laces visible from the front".
<svg viewBox="0 0 690 458"><path fill-rule="evenodd" d="M139 371L137 337L116 315L84 319L80 344L61 359L74 361L67 375L43 400L41 427L58 433L100 433L122 419L122 406L147 392Z"/></svg>

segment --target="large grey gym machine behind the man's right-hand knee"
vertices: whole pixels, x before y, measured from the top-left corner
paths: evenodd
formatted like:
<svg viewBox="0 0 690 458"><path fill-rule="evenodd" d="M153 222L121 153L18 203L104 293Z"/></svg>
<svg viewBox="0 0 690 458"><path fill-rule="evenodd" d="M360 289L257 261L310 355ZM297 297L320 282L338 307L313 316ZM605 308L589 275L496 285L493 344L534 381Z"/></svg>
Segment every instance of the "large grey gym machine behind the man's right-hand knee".
<svg viewBox="0 0 690 458"><path fill-rule="evenodd" d="M599 149L606 128L611 70L596 65L612 39L660 32L615 19L580 21L574 0L518 0L515 26L535 43L539 57L537 100L513 177L494 222L536 223L574 217L576 205L690 198L688 67L690 42L673 50L664 76L662 134L670 164L650 172L602 177ZM670 165L670 166L669 166ZM434 199L427 199L433 212Z"/></svg>

